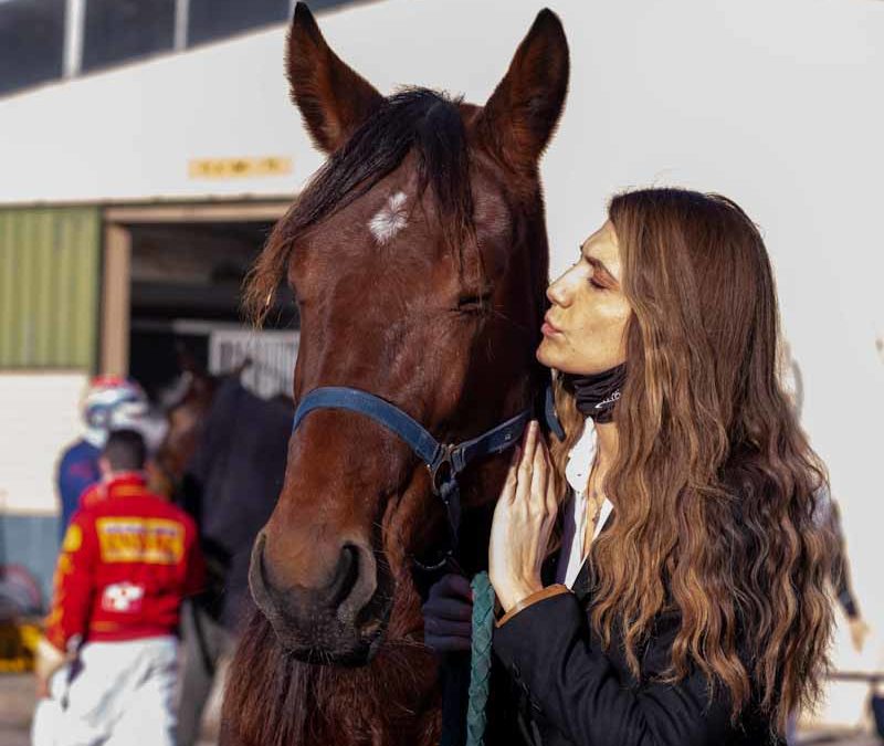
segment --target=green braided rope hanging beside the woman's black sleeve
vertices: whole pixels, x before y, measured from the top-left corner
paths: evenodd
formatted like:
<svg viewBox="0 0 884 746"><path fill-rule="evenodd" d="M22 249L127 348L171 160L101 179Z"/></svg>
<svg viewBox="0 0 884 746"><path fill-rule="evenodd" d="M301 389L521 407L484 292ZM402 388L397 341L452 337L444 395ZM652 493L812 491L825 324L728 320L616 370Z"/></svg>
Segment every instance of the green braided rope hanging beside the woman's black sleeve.
<svg viewBox="0 0 884 746"><path fill-rule="evenodd" d="M466 707L466 746L484 746L491 687L491 643L494 632L494 588L487 572L473 578L473 651L470 702Z"/></svg>

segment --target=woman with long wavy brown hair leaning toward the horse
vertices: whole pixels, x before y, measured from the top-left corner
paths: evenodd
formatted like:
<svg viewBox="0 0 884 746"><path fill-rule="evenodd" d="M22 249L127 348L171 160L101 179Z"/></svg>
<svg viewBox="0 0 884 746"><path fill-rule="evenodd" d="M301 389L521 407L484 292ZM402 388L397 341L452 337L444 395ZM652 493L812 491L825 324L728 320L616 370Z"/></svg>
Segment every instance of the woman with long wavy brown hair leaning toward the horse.
<svg viewBox="0 0 884 746"><path fill-rule="evenodd" d="M537 357L566 438L529 428L490 547L526 738L783 743L820 693L832 548L758 230L722 197L620 195L548 297ZM428 643L459 647L459 593L433 589Z"/></svg>

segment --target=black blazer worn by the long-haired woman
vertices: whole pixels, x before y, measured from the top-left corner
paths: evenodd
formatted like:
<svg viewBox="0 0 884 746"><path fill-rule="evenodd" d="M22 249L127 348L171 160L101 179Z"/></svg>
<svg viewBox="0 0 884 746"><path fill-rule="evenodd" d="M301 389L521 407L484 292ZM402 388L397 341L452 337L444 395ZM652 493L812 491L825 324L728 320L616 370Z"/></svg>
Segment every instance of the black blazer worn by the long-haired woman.
<svg viewBox="0 0 884 746"><path fill-rule="evenodd" d="M532 746L786 746L755 704L730 724L730 706L719 685L714 697L701 672L675 685L654 681L669 668L680 627L677 612L655 620L646 647L638 651L641 676L622 654L622 637L611 647L591 629L588 565L573 593L537 601L494 632L494 651L518 690L523 738Z"/></svg>

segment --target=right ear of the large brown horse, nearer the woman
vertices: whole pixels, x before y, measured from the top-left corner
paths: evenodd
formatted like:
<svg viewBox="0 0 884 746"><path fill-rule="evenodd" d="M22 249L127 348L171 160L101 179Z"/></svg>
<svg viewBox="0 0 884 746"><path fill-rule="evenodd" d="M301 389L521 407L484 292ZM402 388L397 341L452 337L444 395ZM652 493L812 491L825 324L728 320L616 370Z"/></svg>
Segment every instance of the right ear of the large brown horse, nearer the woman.
<svg viewBox="0 0 884 746"><path fill-rule="evenodd" d="M477 122L487 146L514 169L537 168L565 106L569 72L565 29L545 8Z"/></svg>

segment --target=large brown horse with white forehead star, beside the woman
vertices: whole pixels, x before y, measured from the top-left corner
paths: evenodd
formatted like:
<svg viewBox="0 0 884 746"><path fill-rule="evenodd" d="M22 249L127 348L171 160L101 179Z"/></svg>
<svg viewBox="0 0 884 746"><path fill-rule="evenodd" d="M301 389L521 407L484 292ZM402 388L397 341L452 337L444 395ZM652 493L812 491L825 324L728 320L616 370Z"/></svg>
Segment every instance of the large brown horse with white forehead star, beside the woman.
<svg viewBox="0 0 884 746"><path fill-rule="evenodd" d="M536 400L548 249L538 160L568 84L541 11L484 107L406 90L385 98L332 51L303 3L288 80L325 166L275 227L246 300L297 298L298 401L328 386L396 404L461 442ZM459 560L487 563L506 456L465 472ZM234 660L224 740L241 746L431 744L440 696L413 559L444 544L428 470L397 435L339 410L306 417L259 535L261 609Z"/></svg>

